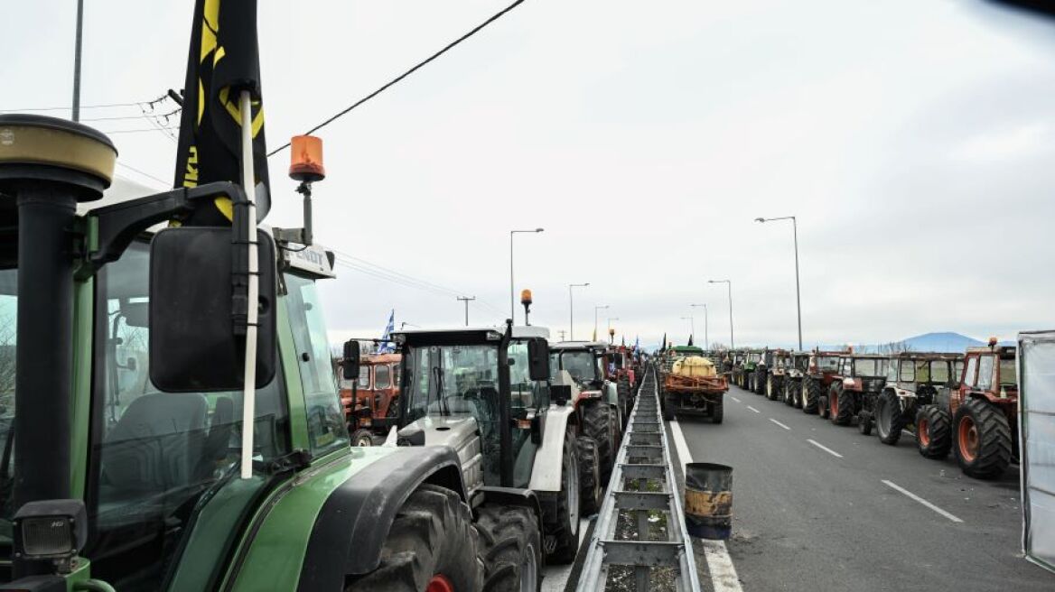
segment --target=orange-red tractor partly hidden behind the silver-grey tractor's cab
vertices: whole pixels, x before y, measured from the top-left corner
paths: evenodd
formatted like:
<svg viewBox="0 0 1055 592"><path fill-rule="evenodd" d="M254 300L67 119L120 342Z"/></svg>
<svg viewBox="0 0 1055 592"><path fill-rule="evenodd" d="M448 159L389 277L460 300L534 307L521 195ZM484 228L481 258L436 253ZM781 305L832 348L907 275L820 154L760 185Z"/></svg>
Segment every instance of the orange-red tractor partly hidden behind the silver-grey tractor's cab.
<svg viewBox="0 0 1055 592"><path fill-rule="evenodd" d="M373 446L399 423L400 354L364 355L359 378L341 380L341 404L352 446ZM340 376L340 374L339 374Z"/></svg>

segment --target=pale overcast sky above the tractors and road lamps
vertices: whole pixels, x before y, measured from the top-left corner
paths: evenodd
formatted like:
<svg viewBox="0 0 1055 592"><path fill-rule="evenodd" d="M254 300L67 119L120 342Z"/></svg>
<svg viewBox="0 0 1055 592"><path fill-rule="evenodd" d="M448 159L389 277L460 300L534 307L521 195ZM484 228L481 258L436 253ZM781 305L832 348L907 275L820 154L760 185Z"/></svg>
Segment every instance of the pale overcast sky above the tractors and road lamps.
<svg viewBox="0 0 1055 592"><path fill-rule="evenodd" d="M286 141L506 0L260 2L266 130ZM66 105L75 0L4 2L0 110ZM184 81L192 0L88 0L82 103L152 99ZM390 309L422 327L509 316L517 292L557 336L576 289L632 342L791 343L795 215L806 346L931 331L1013 338L1055 325L1055 35L984 0L528 0L319 135L315 237L442 287L341 268L331 336L373 336ZM174 105L158 105L159 110ZM137 107L85 110L82 119ZM54 115L66 116L65 112ZM89 122L145 130L145 120ZM175 142L112 136L148 185ZM271 159L268 222L300 221ZM362 263L359 263L362 264ZM453 291L453 292L452 292ZM519 299L519 298L518 298ZM518 304L518 319L522 310Z"/></svg>

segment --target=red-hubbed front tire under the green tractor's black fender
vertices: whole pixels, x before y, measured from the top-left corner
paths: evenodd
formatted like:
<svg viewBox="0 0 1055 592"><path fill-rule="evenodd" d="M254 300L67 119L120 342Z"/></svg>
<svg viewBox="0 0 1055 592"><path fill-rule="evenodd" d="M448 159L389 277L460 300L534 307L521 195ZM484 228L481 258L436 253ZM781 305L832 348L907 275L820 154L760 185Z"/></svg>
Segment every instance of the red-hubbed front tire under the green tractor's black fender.
<svg viewBox="0 0 1055 592"><path fill-rule="evenodd" d="M473 526L468 506L457 493L425 484L396 514L378 569L357 578L345 590L480 590L486 560L481 557L485 557L484 546Z"/></svg>

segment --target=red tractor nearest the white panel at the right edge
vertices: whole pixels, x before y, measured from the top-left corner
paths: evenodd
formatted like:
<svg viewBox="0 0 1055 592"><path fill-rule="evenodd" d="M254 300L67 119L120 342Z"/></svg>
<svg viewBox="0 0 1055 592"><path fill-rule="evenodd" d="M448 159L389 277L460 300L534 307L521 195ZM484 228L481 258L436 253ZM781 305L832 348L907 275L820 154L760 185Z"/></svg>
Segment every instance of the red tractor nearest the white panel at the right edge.
<svg viewBox="0 0 1055 592"><path fill-rule="evenodd" d="M978 479L999 477L1018 458L1016 349L971 348L959 387L916 415L916 443L927 458L952 449L960 469Z"/></svg>

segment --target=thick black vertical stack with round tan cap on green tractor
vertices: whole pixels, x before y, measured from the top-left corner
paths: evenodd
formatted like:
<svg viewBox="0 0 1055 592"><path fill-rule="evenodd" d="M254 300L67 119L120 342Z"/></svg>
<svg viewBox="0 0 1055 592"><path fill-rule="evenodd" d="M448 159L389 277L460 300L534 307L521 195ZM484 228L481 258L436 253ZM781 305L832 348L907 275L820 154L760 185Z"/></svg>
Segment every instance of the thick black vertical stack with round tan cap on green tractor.
<svg viewBox="0 0 1055 592"><path fill-rule="evenodd" d="M110 140L91 127L0 115L0 193L15 199L18 217L16 510L73 497L73 231L77 203L102 197L116 156ZM15 567L16 577L35 571L22 561Z"/></svg>

